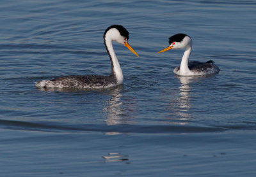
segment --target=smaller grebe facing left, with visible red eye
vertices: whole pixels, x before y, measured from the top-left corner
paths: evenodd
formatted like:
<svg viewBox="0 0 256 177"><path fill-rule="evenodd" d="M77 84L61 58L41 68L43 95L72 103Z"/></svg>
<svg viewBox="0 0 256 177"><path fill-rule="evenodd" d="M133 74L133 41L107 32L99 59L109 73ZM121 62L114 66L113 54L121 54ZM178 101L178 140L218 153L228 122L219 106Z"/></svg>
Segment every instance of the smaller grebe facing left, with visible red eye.
<svg viewBox="0 0 256 177"><path fill-rule="evenodd" d="M192 39L187 34L175 34L169 38L169 46L161 50L165 52L170 49L185 48L184 55L181 59L180 66L173 69L173 73L179 76L202 76L205 74L214 74L220 71L220 68L212 60L207 62L188 62L192 49Z"/></svg>

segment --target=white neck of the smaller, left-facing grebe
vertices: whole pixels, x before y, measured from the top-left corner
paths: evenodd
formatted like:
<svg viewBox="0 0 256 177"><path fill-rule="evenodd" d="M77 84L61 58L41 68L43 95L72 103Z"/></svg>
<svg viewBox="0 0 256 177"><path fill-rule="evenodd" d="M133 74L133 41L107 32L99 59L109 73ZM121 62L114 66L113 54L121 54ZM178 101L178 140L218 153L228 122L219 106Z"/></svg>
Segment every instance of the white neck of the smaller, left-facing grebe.
<svg viewBox="0 0 256 177"><path fill-rule="evenodd" d="M191 49L192 49L192 43L189 43L186 46L186 50L185 50L183 57L181 59L181 62L180 62L180 71L179 71L180 75L186 76L189 73L191 73L191 71L188 68L188 59L189 59L189 55L191 53Z"/></svg>

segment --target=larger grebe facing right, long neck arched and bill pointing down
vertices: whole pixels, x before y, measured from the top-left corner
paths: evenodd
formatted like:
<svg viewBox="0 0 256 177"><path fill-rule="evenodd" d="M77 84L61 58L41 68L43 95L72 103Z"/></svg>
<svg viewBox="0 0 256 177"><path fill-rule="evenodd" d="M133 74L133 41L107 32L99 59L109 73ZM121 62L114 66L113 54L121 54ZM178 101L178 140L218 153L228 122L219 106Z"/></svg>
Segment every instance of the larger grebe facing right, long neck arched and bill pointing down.
<svg viewBox="0 0 256 177"><path fill-rule="evenodd" d="M109 26L103 35L104 44L111 61L111 74L109 76L99 75L79 75L79 76L61 76L53 80L42 80L36 82L36 87L43 88L109 88L120 85L124 81L122 69L116 57L112 41L116 41L126 46L132 53L139 55L127 43L129 32L122 25Z"/></svg>

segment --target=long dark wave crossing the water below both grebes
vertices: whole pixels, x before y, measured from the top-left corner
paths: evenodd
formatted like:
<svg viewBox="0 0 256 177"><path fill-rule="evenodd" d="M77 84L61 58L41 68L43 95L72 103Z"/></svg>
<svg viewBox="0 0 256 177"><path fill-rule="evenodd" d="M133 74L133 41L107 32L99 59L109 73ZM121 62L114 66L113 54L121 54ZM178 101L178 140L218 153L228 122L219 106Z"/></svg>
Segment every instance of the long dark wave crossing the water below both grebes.
<svg viewBox="0 0 256 177"><path fill-rule="evenodd" d="M44 132L118 132L118 133L200 133L230 130L255 130L250 125L196 126L196 125L106 125L106 124L60 124L60 122L24 122L0 120L1 129L19 129Z"/></svg>

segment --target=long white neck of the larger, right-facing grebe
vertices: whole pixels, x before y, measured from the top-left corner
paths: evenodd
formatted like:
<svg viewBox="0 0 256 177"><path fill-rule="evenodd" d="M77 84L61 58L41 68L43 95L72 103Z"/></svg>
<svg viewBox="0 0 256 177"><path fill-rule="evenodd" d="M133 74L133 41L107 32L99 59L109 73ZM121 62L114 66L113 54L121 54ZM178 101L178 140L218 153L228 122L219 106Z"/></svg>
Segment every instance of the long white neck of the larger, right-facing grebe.
<svg viewBox="0 0 256 177"><path fill-rule="evenodd" d="M111 61L111 76L115 77L117 84L121 84L124 81L124 76L118 59L116 57L116 53L114 51L112 39L110 38L110 36L104 36L104 44L106 46L106 50L108 51L108 55Z"/></svg>

